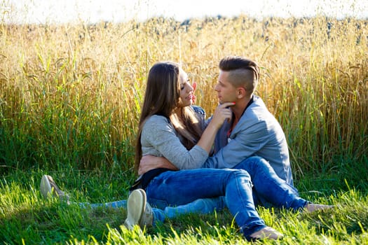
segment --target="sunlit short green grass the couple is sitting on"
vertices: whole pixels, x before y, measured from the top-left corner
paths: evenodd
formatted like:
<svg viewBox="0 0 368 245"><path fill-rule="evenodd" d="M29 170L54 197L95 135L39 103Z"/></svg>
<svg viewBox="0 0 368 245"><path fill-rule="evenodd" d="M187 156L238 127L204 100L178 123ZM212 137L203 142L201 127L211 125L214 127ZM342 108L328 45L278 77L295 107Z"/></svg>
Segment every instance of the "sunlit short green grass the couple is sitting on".
<svg viewBox="0 0 368 245"><path fill-rule="evenodd" d="M41 170L15 171L1 179L0 241L4 244L246 244L229 211L183 215L147 230L126 230L125 209L83 208L39 193ZM49 172L74 202L126 199L130 172L104 169ZM285 235L262 244L366 244L368 242L368 182L355 183L321 175L297 181L301 196L334 204L335 209L305 214L259 207L267 225Z"/></svg>

